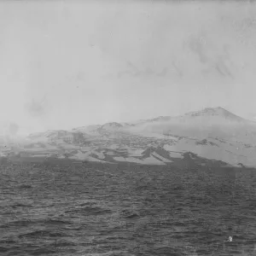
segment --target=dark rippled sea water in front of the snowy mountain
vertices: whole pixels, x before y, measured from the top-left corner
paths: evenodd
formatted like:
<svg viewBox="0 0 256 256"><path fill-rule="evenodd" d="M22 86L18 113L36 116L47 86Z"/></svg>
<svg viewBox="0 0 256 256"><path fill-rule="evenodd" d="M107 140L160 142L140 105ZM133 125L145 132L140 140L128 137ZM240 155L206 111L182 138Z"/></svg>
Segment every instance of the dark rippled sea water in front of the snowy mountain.
<svg viewBox="0 0 256 256"><path fill-rule="evenodd" d="M0 255L256 255L255 189L244 169L5 164Z"/></svg>

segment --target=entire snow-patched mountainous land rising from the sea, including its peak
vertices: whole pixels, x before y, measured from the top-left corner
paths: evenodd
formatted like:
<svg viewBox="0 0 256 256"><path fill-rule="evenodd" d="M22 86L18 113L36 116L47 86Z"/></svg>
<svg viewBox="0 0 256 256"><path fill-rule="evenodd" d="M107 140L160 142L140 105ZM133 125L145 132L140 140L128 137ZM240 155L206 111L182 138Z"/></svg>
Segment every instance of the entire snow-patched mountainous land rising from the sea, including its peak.
<svg viewBox="0 0 256 256"><path fill-rule="evenodd" d="M110 122L71 131L32 134L12 150L32 156L108 163L175 165L209 161L229 166L256 166L256 122L224 108L204 108L180 116L136 122Z"/></svg>

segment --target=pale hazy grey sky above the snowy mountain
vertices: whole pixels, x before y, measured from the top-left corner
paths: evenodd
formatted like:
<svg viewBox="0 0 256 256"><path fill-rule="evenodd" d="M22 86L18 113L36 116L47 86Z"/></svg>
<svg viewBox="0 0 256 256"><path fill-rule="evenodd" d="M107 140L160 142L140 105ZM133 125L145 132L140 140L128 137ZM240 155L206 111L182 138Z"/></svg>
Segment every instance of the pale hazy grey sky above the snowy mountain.
<svg viewBox="0 0 256 256"><path fill-rule="evenodd" d="M253 119L255 59L250 1L3 1L0 126L25 134L218 106Z"/></svg>

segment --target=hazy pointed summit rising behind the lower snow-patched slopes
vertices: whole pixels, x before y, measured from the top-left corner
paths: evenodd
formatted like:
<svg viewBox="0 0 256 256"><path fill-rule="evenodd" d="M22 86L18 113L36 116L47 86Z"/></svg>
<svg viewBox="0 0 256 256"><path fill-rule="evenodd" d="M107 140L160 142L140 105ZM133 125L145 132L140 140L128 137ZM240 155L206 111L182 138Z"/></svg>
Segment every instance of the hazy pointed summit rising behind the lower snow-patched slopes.
<svg viewBox="0 0 256 256"><path fill-rule="evenodd" d="M130 129L131 132L158 133L177 137L224 137L247 143L255 141L256 122L242 119L224 108L204 108L177 117L149 119Z"/></svg>

